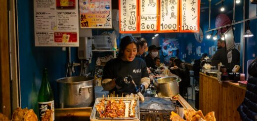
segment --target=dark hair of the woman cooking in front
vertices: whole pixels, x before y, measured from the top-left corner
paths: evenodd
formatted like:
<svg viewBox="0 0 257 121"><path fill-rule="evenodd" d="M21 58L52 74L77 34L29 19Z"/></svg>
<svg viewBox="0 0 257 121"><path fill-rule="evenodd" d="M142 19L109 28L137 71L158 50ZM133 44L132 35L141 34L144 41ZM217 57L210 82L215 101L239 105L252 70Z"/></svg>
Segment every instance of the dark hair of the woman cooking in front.
<svg viewBox="0 0 257 121"><path fill-rule="evenodd" d="M134 40L133 37L131 37L131 36L126 36L126 37L122 38L121 43L120 43L120 49L119 49L118 58L123 56L126 47L130 43L134 43L135 45L137 45L136 44L136 40Z"/></svg>

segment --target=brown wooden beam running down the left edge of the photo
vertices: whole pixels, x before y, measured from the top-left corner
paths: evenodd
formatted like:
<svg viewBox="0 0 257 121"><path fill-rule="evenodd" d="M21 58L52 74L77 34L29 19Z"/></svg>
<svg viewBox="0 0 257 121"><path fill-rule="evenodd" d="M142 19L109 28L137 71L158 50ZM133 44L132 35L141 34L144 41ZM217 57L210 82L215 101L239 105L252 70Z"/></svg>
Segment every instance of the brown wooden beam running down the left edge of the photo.
<svg viewBox="0 0 257 121"><path fill-rule="evenodd" d="M0 112L11 117L7 0L0 0Z"/></svg>

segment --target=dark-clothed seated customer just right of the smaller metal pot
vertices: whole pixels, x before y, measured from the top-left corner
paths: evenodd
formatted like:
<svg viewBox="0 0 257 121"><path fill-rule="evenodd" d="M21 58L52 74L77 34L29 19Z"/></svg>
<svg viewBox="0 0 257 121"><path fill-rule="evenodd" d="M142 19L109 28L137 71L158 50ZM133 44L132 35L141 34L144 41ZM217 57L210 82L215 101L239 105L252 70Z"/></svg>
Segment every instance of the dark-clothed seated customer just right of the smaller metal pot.
<svg viewBox="0 0 257 121"><path fill-rule="evenodd" d="M184 96L184 94L186 94L184 87L190 85L189 69L179 58L175 58L173 64L174 66L173 68L171 67L171 70L174 70L174 74L181 78L179 82L179 93Z"/></svg>

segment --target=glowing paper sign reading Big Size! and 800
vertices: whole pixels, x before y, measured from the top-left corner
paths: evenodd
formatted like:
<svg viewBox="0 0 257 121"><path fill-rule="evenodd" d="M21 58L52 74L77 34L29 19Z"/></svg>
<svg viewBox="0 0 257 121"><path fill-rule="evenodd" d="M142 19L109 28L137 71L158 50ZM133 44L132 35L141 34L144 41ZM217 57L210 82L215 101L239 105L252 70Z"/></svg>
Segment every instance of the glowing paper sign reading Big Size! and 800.
<svg viewBox="0 0 257 121"><path fill-rule="evenodd" d="M139 32L156 33L159 0L139 0Z"/></svg>

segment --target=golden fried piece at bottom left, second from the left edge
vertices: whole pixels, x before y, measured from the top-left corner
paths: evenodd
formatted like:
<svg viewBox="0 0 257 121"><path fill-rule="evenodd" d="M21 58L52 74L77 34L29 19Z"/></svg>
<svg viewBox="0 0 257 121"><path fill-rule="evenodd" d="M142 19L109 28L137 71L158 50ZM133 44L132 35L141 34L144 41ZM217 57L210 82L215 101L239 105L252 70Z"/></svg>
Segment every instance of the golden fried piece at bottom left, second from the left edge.
<svg viewBox="0 0 257 121"><path fill-rule="evenodd" d="M29 110L27 108L21 109L18 107L12 114L12 121L23 121L24 120L24 115L28 112Z"/></svg>

